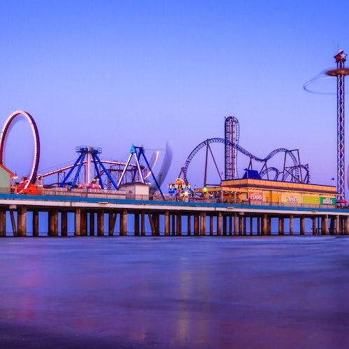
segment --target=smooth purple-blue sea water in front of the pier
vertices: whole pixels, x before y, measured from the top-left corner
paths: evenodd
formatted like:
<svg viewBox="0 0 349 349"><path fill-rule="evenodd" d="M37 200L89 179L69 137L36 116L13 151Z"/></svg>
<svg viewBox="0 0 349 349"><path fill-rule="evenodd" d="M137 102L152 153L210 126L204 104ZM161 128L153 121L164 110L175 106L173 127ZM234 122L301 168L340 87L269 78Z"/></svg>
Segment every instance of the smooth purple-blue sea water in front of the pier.
<svg viewBox="0 0 349 349"><path fill-rule="evenodd" d="M349 347L349 237L0 239L1 348Z"/></svg>

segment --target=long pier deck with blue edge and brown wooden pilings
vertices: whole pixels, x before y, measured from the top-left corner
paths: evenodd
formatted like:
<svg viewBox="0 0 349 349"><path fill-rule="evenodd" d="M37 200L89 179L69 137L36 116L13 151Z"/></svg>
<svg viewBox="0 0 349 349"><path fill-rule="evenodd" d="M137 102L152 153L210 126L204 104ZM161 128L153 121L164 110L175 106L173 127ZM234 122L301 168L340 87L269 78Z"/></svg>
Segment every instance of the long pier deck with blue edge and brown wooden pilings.
<svg viewBox="0 0 349 349"><path fill-rule="evenodd" d="M329 234L349 234L349 209L0 195L1 237Z"/></svg>

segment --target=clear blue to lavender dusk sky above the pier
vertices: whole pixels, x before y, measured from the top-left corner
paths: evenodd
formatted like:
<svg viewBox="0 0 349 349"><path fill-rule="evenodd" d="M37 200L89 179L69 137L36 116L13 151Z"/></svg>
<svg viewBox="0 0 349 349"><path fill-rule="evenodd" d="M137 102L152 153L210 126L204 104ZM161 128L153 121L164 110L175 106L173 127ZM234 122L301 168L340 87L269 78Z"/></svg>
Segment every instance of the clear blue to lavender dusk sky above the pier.
<svg viewBox="0 0 349 349"><path fill-rule="evenodd" d="M150 156L168 142L172 181L234 116L244 149L299 149L311 182L335 185L336 95L302 85L334 68L338 48L349 52L348 11L321 0L0 1L0 124L15 110L34 117L39 172L73 161L82 144L126 161L131 144ZM335 92L334 80L322 83ZM223 171L223 146L213 149ZM5 165L25 174L32 153L18 121ZM200 156L188 168L194 186ZM238 164L242 175L248 158Z"/></svg>

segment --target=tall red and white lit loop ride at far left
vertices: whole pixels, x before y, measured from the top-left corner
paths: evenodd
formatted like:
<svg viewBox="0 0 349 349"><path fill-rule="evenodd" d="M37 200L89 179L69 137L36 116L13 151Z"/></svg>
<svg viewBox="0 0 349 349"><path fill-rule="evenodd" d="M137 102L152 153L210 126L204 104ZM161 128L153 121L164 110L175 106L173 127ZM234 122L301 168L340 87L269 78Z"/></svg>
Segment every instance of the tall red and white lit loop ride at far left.
<svg viewBox="0 0 349 349"><path fill-rule="evenodd" d="M22 115L29 121L29 125L31 127L31 131L33 133L33 140L34 140L34 160L33 160L33 165L31 167L29 179L27 180L24 186L24 189L26 189L28 188L29 184L31 183L34 184L36 181L36 174L38 172L38 165L39 165L39 158L40 158L40 139L39 139L38 128L36 127L36 123L33 117L28 112L23 112L22 110L17 110L16 112L13 112L12 114L10 114L5 124L3 125L3 129L0 135L0 163L1 165L3 165L6 136L8 133L8 129L10 128L10 125L12 124L13 120L16 117L19 117L20 115Z"/></svg>

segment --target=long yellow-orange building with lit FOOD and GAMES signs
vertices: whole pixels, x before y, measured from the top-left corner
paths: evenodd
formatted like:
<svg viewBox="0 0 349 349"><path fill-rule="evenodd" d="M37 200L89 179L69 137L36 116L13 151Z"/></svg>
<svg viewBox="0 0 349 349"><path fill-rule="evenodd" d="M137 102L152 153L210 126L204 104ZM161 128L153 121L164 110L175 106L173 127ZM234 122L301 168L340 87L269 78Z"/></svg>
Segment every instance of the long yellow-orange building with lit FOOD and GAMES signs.
<svg viewBox="0 0 349 349"><path fill-rule="evenodd" d="M232 179L221 186L196 188L207 198L221 198L224 202L249 202L253 205L336 205L336 187L302 184L265 179ZM223 196L223 198L222 198Z"/></svg>

